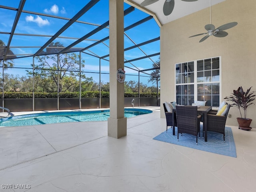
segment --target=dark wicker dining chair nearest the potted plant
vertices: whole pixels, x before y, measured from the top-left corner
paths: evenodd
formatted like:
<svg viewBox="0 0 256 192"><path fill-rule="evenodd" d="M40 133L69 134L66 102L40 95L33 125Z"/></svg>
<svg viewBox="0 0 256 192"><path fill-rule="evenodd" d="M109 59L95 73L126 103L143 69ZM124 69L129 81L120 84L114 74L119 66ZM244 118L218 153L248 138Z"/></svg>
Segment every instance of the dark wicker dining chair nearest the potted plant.
<svg viewBox="0 0 256 192"><path fill-rule="evenodd" d="M227 103L226 103L227 104ZM216 115L217 111L210 111L210 114L207 114L207 131L213 131L220 134L223 134L223 140L225 142L225 125L228 117L228 112L230 104L227 104L227 112L225 116Z"/></svg>

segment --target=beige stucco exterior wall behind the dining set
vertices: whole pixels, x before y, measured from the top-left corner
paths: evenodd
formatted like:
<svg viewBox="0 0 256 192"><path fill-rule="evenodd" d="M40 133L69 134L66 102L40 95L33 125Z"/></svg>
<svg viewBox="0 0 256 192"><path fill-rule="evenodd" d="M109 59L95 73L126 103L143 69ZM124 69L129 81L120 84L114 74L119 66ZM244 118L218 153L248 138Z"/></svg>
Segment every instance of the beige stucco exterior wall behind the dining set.
<svg viewBox="0 0 256 192"><path fill-rule="evenodd" d="M256 90L256 2L255 0L226 0L212 6L212 24L217 28L229 22L238 22L234 28L226 30L228 36L217 38L189 36L206 32L204 26L210 24L210 8L169 22L160 30L161 51L161 118L164 118L162 103L175 100L175 64L221 56L221 100L234 89L252 86ZM226 125L238 126L237 108L230 108L231 118ZM252 118L252 128L256 128L256 106L247 110Z"/></svg>

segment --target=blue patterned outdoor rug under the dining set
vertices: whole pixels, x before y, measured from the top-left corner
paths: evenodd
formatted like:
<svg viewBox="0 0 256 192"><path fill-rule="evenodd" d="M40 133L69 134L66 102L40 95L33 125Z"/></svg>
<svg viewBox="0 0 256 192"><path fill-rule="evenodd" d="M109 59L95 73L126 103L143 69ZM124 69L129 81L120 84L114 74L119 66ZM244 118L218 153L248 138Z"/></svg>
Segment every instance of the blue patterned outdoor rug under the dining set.
<svg viewBox="0 0 256 192"><path fill-rule="evenodd" d="M199 134L198 134L199 135ZM200 131L200 139L198 139L198 145L196 145L196 136L183 133L179 134L179 141L177 140L177 127L175 127L175 135L172 135L172 129L169 128L162 132L160 135L153 138L154 140L172 143L184 147L189 147L197 150L207 151L220 155L226 155L230 157L236 157L236 144L234 142L232 130L230 127L225 128L225 143L223 141L223 135L220 133L208 131L207 142L202 138L202 125Z"/></svg>

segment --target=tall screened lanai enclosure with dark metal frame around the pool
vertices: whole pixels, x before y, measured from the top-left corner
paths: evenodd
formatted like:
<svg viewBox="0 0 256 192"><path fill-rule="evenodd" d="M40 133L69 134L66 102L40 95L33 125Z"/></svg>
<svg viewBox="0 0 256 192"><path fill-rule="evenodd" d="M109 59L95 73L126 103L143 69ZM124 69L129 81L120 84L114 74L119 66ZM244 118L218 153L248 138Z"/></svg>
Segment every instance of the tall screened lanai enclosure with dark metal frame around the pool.
<svg viewBox="0 0 256 192"><path fill-rule="evenodd" d="M1 106L109 107L109 1L0 1ZM157 106L160 27L124 2L125 106Z"/></svg>

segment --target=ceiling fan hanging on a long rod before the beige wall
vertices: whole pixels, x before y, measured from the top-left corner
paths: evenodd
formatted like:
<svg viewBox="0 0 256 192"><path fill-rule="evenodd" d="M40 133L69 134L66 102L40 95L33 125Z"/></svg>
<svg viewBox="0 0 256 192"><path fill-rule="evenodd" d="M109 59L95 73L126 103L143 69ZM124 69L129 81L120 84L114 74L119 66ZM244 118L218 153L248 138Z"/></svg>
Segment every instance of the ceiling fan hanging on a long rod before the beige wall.
<svg viewBox="0 0 256 192"><path fill-rule="evenodd" d="M204 28L207 30L206 33L200 33L190 37L196 37L196 36L206 34L206 36L204 36L199 42L203 42L204 40L206 40L208 37L212 35L215 37L226 37L228 33L224 30L230 29L238 24L237 22L231 22L231 23L227 23L222 26L219 26L218 28L215 28L215 26L212 24L211 0L210 0L210 22L211 24L207 24L206 26L204 26Z"/></svg>

